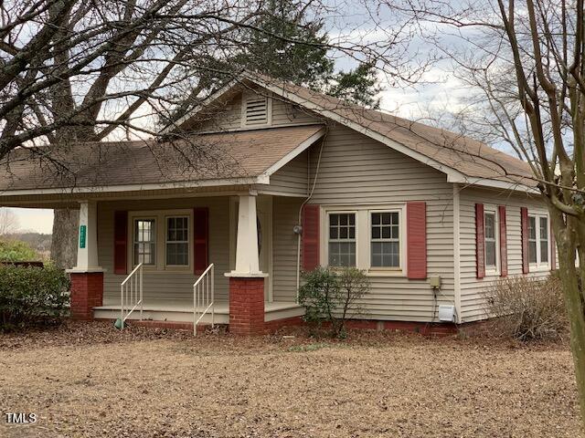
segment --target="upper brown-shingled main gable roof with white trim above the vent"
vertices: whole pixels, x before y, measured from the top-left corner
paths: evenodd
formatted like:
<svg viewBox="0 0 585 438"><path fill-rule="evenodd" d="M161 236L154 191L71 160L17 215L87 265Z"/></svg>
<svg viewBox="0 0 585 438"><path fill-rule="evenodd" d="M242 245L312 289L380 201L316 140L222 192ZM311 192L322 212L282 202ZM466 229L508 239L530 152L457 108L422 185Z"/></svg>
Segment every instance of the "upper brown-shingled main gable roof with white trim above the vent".
<svg viewBox="0 0 585 438"><path fill-rule="evenodd" d="M181 126L216 99L231 95L242 82L250 81L305 110L357 130L390 148L447 174L450 183L472 183L506 189L534 190L530 167L503 151L448 130L434 128L391 114L347 104L312 89L264 75L246 73L232 81L195 110L178 120ZM169 128L167 128L168 130Z"/></svg>

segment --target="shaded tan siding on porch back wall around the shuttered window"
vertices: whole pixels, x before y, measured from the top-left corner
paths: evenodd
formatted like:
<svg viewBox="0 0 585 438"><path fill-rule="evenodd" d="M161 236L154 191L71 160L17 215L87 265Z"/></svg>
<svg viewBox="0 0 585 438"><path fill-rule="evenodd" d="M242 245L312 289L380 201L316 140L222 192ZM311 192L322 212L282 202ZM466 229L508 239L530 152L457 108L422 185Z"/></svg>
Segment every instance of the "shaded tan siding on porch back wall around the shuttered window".
<svg viewBox="0 0 585 438"><path fill-rule="evenodd" d="M113 214L116 210L147 211L192 209L209 207L209 261L215 264L216 299L228 299L229 271L229 197L177 198L149 201L119 201L98 203L98 254L104 275L104 304L120 302L120 284L125 275L113 274ZM192 224L190 224L192 226ZM132 235L129 231L129 245ZM157 271L144 269L144 300L148 298L173 298L193 300L193 283L196 276L192 270L186 272Z"/></svg>

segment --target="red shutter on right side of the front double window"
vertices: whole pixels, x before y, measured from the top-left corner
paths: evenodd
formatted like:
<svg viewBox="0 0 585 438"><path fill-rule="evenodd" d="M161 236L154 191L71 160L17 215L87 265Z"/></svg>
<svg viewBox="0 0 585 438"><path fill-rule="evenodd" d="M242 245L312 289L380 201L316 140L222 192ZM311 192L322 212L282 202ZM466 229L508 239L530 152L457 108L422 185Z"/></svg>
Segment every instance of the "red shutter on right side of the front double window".
<svg viewBox="0 0 585 438"><path fill-rule="evenodd" d="M406 204L407 275L410 279L427 277L427 204Z"/></svg>

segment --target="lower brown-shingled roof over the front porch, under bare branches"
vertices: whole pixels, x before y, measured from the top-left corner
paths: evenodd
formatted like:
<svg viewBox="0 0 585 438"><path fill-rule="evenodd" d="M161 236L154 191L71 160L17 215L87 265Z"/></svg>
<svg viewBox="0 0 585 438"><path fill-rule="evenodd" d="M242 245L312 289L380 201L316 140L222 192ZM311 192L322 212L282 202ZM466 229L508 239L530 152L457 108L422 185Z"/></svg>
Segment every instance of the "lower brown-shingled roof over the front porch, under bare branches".
<svg viewBox="0 0 585 438"><path fill-rule="evenodd" d="M17 149L0 163L0 195L269 183L323 135L311 125Z"/></svg>

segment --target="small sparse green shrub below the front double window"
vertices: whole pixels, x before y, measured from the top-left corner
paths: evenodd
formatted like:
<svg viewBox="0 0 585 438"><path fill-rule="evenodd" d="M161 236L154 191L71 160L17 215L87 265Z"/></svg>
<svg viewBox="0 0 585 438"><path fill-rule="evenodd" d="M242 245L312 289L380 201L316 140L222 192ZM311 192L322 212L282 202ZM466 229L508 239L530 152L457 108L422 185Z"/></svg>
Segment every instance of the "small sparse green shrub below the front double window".
<svg viewBox="0 0 585 438"><path fill-rule="evenodd" d="M317 267L303 273L303 280L299 303L306 308L304 319L317 325L328 322L332 336L344 337L346 319L360 313L358 300L369 290L364 271L355 267Z"/></svg>

